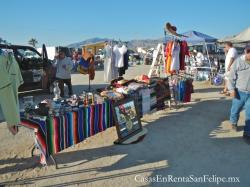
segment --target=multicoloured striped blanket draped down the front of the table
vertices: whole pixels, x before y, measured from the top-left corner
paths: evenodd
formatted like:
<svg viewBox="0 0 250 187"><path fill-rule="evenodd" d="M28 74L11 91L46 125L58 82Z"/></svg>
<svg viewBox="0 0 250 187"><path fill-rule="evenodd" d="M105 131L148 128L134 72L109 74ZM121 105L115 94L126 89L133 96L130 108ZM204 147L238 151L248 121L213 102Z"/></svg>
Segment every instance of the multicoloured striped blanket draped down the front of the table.
<svg viewBox="0 0 250 187"><path fill-rule="evenodd" d="M112 101L106 100L102 104L74 108L73 111L59 116L21 114L21 125L34 130L36 146L47 159L112 127Z"/></svg>

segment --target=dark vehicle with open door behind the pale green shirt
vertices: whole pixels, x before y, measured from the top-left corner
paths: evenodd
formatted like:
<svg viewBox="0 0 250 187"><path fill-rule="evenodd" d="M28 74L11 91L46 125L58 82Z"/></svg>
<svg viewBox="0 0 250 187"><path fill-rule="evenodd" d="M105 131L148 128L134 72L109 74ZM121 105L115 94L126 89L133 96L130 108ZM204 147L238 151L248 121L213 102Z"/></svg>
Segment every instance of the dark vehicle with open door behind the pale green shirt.
<svg viewBox="0 0 250 187"><path fill-rule="evenodd" d="M55 72L52 61L47 57L46 48L42 54L31 46L0 44L0 49L12 51L20 67L24 84L19 87L19 92L52 92Z"/></svg>

